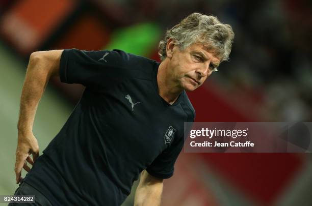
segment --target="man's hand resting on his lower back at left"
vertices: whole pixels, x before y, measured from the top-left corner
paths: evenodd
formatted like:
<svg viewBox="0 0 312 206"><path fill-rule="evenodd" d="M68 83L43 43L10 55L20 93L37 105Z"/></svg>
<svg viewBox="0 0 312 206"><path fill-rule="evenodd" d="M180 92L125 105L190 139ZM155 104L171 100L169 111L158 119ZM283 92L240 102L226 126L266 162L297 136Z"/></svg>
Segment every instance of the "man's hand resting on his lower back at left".
<svg viewBox="0 0 312 206"><path fill-rule="evenodd" d="M33 158L31 158L30 155L33 155ZM16 184L18 184L22 180L21 177L22 168L24 168L27 172L29 172L31 169L27 165L27 162L33 165L38 156L39 156L39 145L33 133L32 132L23 133L19 131L16 148L16 162L15 162Z"/></svg>

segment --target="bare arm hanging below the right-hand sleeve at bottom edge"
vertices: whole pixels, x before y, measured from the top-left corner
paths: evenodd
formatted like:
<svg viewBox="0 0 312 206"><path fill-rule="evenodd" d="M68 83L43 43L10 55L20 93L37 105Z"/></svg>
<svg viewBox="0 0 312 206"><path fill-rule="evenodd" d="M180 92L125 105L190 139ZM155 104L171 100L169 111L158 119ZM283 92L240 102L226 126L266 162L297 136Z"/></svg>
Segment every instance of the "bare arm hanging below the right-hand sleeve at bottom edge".
<svg viewBox="0 0 312 206"><path fill-rule="evenodd" d="M155 178L146 170L141 173L141 179L135 195L135 206L161 204L163 179Z"/></svg>

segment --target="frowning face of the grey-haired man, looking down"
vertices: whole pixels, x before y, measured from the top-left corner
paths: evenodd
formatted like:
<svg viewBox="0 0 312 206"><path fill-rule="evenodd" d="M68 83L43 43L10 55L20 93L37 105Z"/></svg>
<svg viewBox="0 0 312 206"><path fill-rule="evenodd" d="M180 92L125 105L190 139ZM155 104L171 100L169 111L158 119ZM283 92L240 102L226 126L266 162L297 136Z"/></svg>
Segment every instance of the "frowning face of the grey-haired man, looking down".
<svg viewBox="0 0 312 206"><path fill-rule="evenodd" d="M170 43L168 47L170 48ZM171 57L168 72L175 83L186 91L197 89L220 64L220 58L202 44L192 44L183 51L178 46L171 45L167 57L168 54Z"/></svg>

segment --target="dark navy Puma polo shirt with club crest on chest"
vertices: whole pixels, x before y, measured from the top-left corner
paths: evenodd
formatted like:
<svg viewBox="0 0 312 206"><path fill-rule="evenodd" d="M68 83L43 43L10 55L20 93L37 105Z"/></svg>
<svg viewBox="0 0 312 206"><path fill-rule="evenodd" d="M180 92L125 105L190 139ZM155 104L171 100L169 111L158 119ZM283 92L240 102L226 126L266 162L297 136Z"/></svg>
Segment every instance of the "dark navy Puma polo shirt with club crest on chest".
<svg viewBox="0 0 312 206"><path fill-rule="evenodd" d="M159 96L158 67L121 50L65 49L61 81L86 89L25 182L54 205L120 205L142 170L170 178L195 111L185 91L173 105Z"/></svg>

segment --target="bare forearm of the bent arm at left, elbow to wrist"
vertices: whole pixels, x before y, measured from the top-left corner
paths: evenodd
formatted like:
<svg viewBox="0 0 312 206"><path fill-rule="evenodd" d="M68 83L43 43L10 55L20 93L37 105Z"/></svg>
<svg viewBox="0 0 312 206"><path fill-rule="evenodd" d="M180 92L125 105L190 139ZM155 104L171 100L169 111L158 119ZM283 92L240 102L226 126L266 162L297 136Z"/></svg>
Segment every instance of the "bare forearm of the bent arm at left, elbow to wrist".
<svg viewBox="0 0 312 206"><path fill-rule="evenodd" d="M31 55L21 92L17 125L19 132L32 131L37 106L50 76L45 69L48 66L38 55Z"/></svg>

